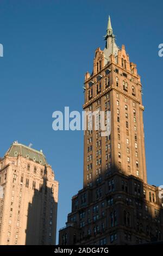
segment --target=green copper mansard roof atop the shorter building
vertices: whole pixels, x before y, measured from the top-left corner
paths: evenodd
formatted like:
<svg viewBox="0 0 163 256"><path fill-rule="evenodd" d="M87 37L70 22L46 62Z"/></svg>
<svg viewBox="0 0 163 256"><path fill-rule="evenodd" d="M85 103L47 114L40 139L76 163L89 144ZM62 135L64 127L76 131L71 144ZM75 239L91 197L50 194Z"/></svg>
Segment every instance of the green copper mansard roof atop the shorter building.
<svg viewBox="0 0 163 256"><path fill-rule="evenodd" d="M5 155L10 157L17 157L20 155L42 165L47 164L45 155L43 155L42 150L35 150L18 142L14 142Z"/></svg>

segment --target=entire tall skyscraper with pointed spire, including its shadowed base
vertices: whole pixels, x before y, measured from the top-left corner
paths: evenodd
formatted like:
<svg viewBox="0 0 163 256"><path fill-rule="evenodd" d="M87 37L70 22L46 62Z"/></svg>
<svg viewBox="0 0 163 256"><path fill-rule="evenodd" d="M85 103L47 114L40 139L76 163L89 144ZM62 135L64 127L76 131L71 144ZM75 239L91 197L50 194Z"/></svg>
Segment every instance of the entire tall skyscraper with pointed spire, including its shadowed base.
<svg viewBox="0 0 163 256"><path fill-rule="evenodd" d="M85 111L111 111L111 135L86 131L84 187L60 229L59 245L130 245L162 240L159 188L147 184L142 85L109 17L104 51L85 75ZM94 127L94 125L93 125ZM156 170L154 170L156 172ZM161 184L160 184L161 185Z"/></svg>

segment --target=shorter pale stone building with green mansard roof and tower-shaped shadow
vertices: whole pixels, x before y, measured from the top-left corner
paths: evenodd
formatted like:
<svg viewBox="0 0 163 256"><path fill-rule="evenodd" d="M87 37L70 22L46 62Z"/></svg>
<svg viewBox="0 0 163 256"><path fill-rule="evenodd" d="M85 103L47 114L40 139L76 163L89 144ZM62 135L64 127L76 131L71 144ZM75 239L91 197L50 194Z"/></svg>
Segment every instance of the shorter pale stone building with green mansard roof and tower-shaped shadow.
<svg viewBox="0 0 163 256"><path fill-rule="evenodd" d="M58 181L42 150L14 142L0 160L0 245L54 245Z"/></svg>

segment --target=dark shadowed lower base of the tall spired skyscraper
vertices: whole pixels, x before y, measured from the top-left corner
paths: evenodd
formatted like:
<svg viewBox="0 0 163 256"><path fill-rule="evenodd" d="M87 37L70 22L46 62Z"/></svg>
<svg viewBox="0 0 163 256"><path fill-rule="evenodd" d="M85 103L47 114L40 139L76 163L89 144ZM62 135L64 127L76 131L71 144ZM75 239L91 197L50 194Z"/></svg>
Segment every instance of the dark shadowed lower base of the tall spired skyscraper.
<svg viewBox="0 0 163 256"><path fill-rule="evenodd" d="M99 187L99 189L98 189ZM59 245L135 245L163 239L159 188L118 170L72 198Z"/></svg>

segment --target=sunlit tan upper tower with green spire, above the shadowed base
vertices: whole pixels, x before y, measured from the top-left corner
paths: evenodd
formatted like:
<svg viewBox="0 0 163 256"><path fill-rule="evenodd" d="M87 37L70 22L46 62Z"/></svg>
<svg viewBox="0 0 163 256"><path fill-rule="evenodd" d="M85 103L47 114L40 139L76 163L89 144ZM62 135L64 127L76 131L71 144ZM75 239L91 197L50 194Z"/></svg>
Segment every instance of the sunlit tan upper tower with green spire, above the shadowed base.
<svg viewBox="0 0 163 256"><path fill-rule="evenodd" d="M95 52L93 74L85 75L83 108L110 111L111 135L101 137L95 129L85 133L84 187L92 185L98 175L115 170L147 182L140 76L124 45L118 50L110 17L105 40L104 51L97 48Z"/></svg>

